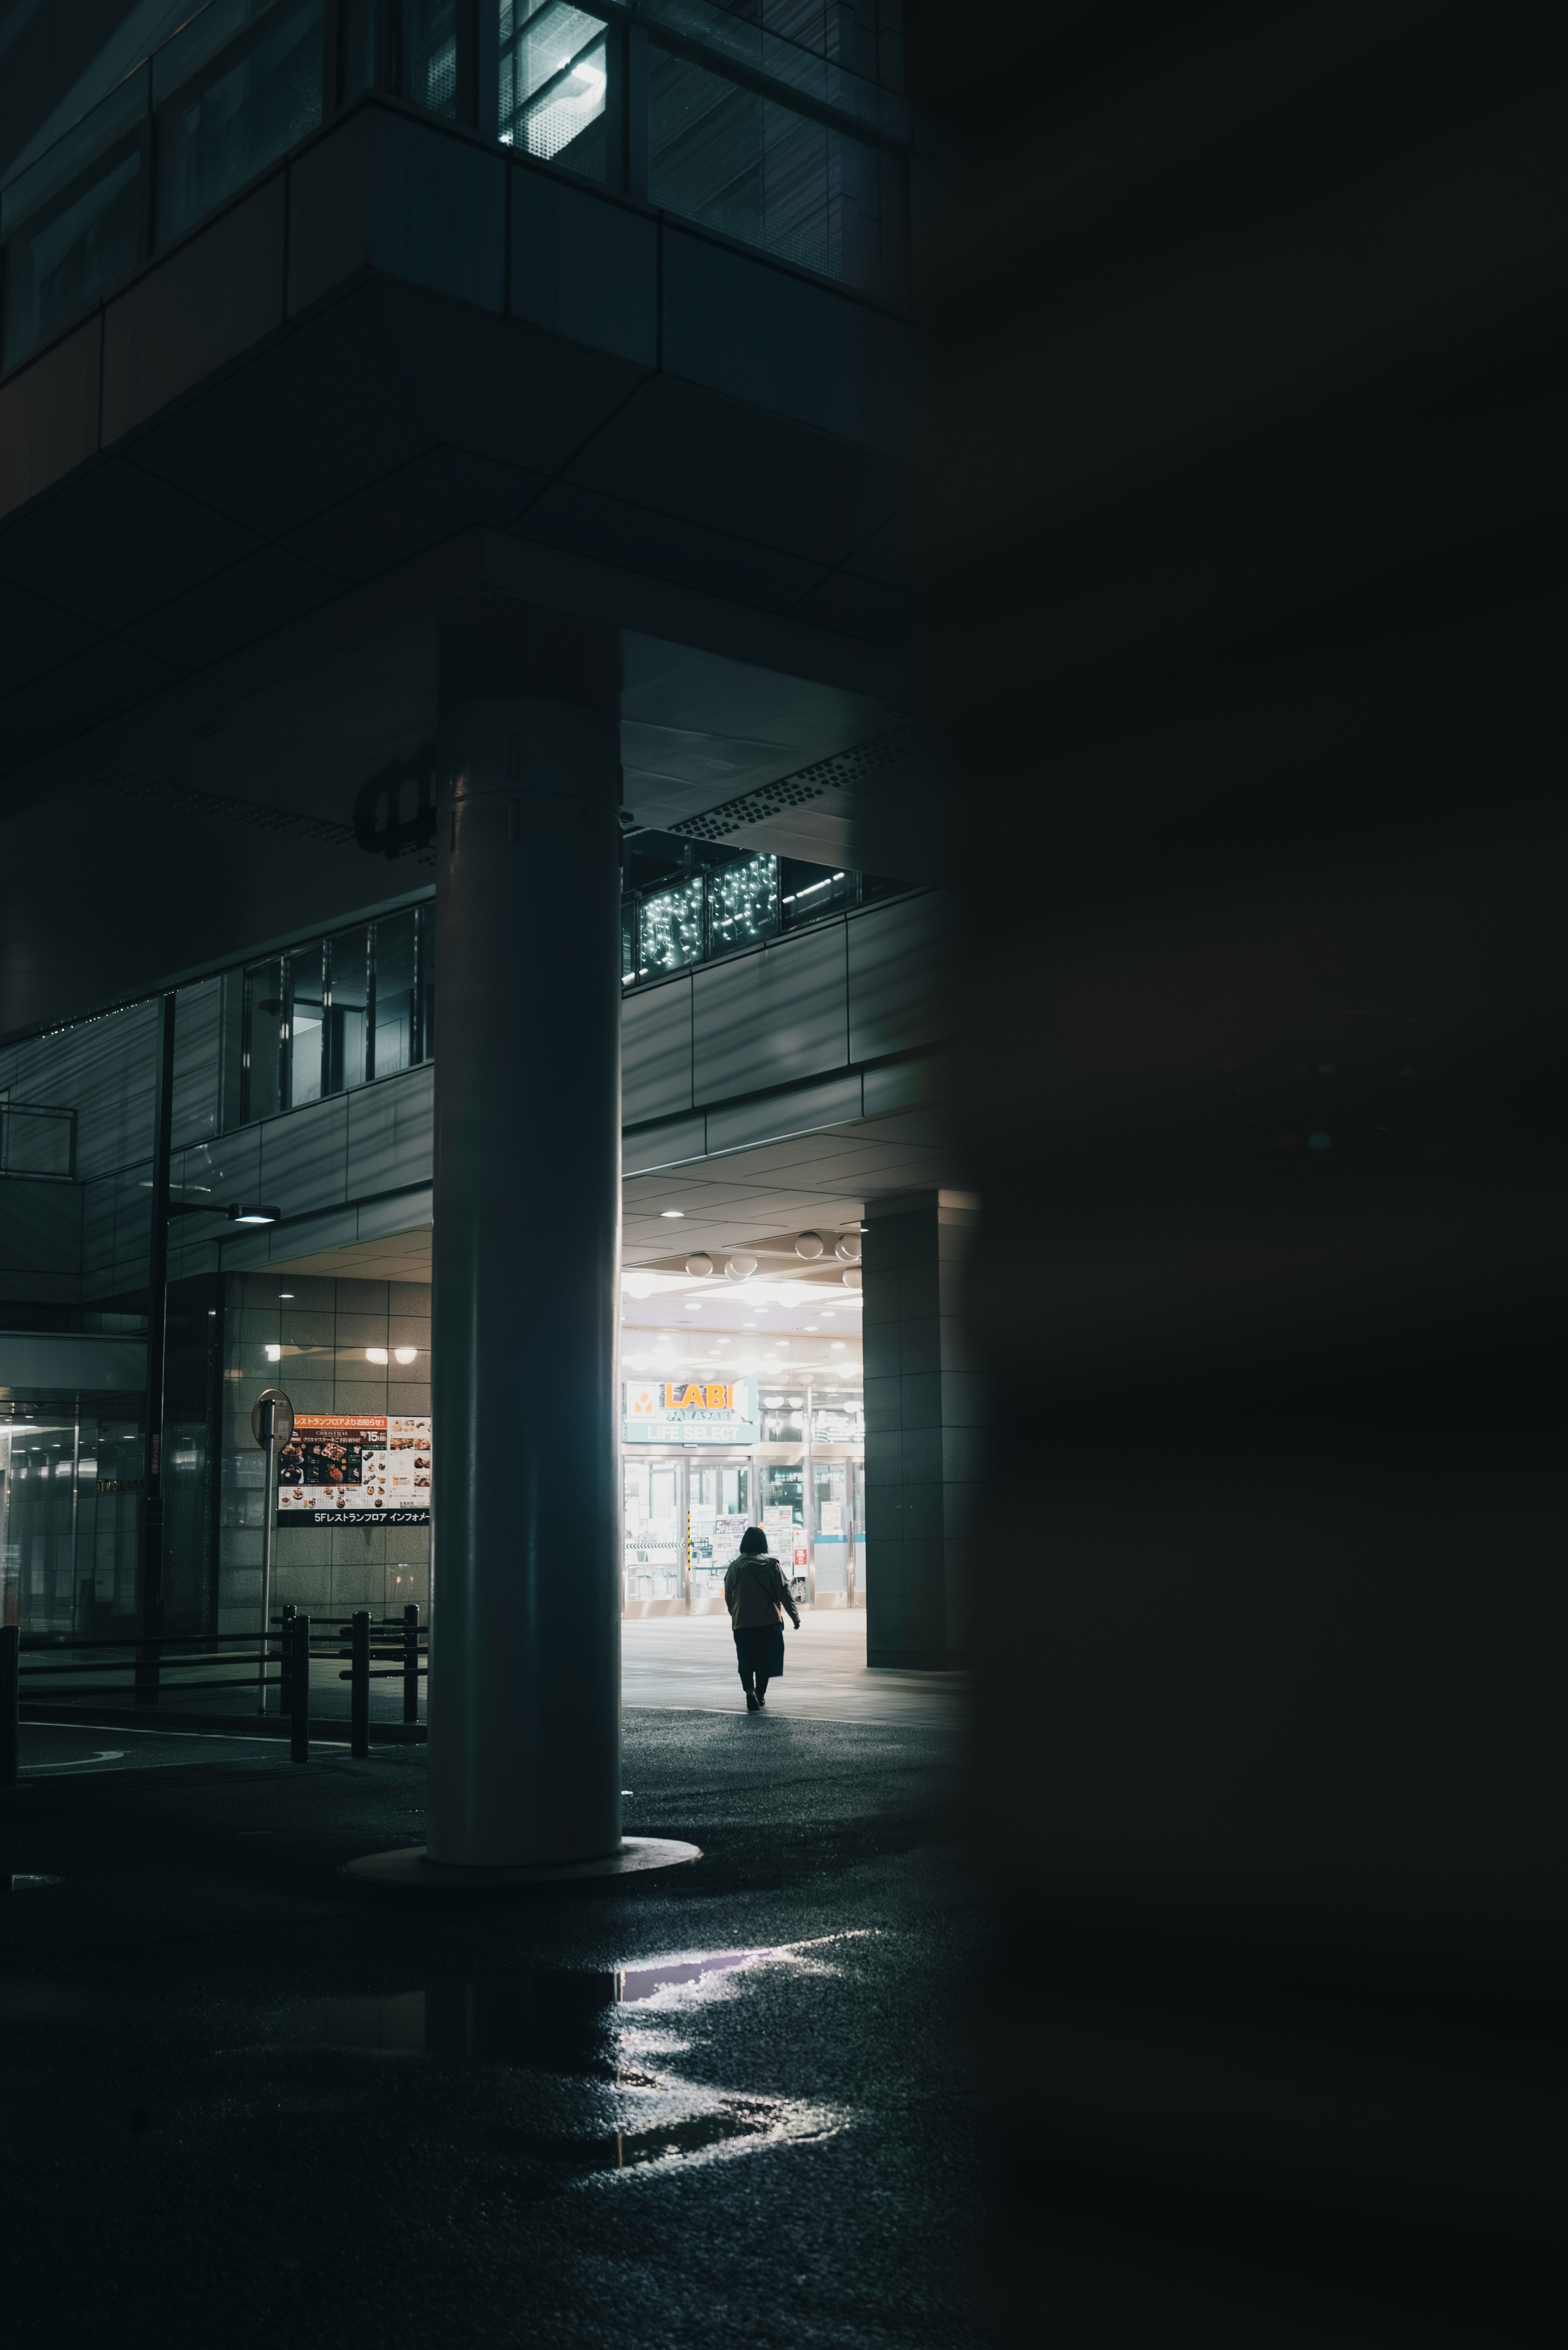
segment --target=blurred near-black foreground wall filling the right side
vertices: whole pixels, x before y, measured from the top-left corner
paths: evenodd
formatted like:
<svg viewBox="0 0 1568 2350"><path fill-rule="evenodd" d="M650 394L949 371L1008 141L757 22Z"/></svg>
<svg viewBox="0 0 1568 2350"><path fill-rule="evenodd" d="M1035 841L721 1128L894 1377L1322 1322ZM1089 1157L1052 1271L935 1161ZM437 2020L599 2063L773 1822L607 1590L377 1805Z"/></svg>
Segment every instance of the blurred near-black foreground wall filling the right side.
<svg viewBox="0 0 1568 2350"><path fill-rule="evenodd" d="M985 806L1039 916L971 862L983 2291L1020 2343L1544 2341L1559 33L936 33L931 674L957 853Z"/></svg>

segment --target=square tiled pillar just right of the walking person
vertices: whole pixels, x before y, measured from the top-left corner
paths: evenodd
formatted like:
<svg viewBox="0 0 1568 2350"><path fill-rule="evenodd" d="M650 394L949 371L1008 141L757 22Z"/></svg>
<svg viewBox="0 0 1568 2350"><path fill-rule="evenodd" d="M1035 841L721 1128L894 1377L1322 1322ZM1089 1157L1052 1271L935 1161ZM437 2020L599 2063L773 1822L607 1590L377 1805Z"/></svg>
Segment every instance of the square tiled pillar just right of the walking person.
<svg viewBox="0 0 1568 2350"><path fill-rule="evenodd" d="M969 1645L964 1544L983 1412L957 1292L976 1222L959 1191L865 1208L867 1664L940 1671Z"/></svg>

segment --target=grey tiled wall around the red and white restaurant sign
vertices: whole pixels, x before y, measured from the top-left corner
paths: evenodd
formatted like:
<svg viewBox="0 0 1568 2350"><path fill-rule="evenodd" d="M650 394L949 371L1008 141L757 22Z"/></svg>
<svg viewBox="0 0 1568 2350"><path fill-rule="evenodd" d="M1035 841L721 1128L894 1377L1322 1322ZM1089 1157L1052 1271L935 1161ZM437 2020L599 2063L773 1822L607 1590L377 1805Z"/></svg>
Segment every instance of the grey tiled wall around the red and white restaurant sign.
<svg viewBox="0 0 1568 2350"><path fill-rule="evenodd" d="M292 1297L282 1297L292 1290ZM282 1347L273 1361L268 1347ZM414 1363L369 1363L367 1347L416 1347ZM249 1415L263 1386L296 1412L428 1412L430 1285L230 1274L223 1283L223 1530L219 1622L252 1631L261 1605L261 1452ZM440 1476L440 1464L437 1471ZM430 1537L407 1525L277 1530L273 1603L310 1614L397 1614L430 1605Z"/></svg>

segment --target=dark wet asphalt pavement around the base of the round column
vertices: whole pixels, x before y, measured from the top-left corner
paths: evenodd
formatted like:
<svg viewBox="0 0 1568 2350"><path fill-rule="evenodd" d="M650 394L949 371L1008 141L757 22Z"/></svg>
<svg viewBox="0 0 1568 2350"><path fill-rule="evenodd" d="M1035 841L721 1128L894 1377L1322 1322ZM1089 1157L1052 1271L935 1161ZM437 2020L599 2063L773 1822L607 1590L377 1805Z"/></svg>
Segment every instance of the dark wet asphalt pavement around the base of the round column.
<svg viewBox="0 0 1568 2350"><path fill-rule="evenodd" d="M24 1765L19 2343L976 2341L945 1734L632 1713L628 1831L698 1864L435 1906L336 1873L423 1840L423 1748L28 1725Z"/></svg>

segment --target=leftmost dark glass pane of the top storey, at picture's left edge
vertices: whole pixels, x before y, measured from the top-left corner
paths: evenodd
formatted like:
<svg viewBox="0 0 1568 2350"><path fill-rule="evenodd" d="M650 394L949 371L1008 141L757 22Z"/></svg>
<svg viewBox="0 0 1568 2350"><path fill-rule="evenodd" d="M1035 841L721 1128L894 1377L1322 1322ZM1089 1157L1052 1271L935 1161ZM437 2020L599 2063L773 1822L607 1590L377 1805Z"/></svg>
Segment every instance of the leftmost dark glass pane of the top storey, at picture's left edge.
<svg viewBox="0 0 1568 2350"><path fill-rule="evenodd" d="M0 197L5 364L141 261L148 75L132 73Z"/></svg>

